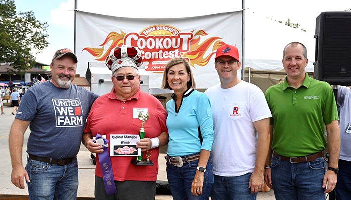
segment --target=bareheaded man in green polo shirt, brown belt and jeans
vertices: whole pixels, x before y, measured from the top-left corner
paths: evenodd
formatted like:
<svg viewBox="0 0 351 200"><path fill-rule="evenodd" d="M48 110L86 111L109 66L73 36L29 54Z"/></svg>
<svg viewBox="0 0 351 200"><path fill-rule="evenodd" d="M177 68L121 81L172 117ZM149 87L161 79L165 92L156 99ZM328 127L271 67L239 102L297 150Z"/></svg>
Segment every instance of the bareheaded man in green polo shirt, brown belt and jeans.
<svg viewBox="0 0 351 200"><path fill-rule="evenodd" d="M340 131L335 97L330 85L305 72L307 49L298 42L285 46L284 82L266 91L272 112L272 159L267 159L265 181L277 199L325 199L336 184ZM325 172L323 151L326 125L329 147Z"/></svg>

